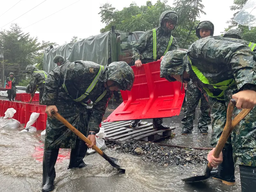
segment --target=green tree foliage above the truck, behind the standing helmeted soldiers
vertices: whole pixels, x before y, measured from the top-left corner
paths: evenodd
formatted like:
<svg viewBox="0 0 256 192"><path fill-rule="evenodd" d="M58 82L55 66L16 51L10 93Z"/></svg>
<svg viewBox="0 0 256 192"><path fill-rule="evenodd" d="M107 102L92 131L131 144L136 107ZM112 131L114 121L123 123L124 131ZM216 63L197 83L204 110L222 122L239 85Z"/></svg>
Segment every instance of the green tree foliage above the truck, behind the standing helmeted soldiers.
<svg viewBox="0 0 256 192"><path fill-rule="evenodd" d="M159 17L166 10L173 10L179 15L179 25L172 32L176 37L180 47L188 48L188 45L197 40L195 27L199 21L196 20L203 11L202 0L175 0L174 7L167 5L167 0L158 0L154 5L147 1L146 5L138 6L136 3L124 7L121 11L116 10L111 4L106 3L100 6L101 22L105 23L105 28L100 29L100 33L111 30L115 26L116 30L126 31L147 31L159 26Z"/></svg>

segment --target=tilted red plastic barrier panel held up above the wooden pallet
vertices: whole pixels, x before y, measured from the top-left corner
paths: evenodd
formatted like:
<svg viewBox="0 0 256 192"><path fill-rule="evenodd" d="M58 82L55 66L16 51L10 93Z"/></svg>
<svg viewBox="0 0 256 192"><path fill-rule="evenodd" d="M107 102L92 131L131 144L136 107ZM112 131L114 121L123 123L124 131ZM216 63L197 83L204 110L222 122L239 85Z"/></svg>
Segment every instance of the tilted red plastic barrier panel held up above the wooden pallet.
<svg viewBox="0 0 256 192"><path fill-rule="evenodd" d="M131 91L121 91L124 102L104 121L151 119L180 114L185 97L180 82L160 78L160 61L132 66L135 79Z"/></svg>

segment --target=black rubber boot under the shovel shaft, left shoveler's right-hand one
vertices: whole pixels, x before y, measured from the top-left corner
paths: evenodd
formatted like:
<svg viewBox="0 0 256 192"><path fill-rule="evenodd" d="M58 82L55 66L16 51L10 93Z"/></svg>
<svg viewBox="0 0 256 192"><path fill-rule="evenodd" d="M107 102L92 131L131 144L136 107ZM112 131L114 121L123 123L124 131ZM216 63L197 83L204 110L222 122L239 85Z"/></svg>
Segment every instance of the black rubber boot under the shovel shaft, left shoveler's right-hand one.
<svg viewBox="0 0 256 192"><path fill-rule="evenodd" d="M76 139L76 146L71 149L68 169L83 168L86 166L83 159L86 155L87 145L83 140Z"/></svg>

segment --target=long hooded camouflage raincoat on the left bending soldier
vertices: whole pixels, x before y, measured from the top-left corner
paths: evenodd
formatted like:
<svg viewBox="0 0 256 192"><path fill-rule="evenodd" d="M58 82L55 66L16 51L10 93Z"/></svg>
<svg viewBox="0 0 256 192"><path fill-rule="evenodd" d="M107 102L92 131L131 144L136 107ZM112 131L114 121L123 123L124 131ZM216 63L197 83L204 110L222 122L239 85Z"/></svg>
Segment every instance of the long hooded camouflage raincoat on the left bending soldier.
<svg viewBox="0 0 256 192"><path fill-rule="evenodd" d="M74 101L85 95L87 88L98 75L100 68L103 68L103 66L91 61L81 60L66 63L52 69L45 83L42 104L56 105L60 115L85 136L88 131L99 132L99 125L105 114L108 100L113 94L106 90L104 82L114 80L120 84L122 90L131 90L134 81L132 68L127 63L123 61L113 62L104 67L99 81L81 102L84 104L95 103L100 95L105 93L103 98L92 107ZM75 148L75 144L75 133L55 118L47 118L45 148Z"/></svg>

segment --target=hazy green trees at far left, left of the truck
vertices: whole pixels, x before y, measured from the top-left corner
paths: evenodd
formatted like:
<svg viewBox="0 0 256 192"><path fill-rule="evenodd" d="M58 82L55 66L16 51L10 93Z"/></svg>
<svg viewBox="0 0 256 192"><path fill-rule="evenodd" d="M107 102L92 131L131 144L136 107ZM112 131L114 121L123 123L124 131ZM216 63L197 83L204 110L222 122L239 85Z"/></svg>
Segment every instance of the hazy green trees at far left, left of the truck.
<svg viewBox="0 0 256 192"><path fill-rule="evenodd" d="M27 65L36 65L43 69L43 51L56 46L49 41L38 42L37 37L31 37L24 33L18 24L11 25L9 30L0 31L0 47L4 49L4 74L9 76L10 72L15 74L18 81L26 79Z"/></svg>

